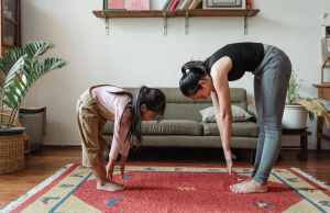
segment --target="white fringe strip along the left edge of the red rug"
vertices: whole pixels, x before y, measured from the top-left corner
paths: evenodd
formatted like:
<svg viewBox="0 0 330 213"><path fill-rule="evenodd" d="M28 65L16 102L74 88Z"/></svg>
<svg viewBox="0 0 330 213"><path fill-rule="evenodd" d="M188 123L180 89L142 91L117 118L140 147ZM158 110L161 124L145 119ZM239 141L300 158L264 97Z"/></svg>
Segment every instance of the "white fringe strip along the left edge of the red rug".
<svg viewBox="0 0 330 213"><path fill-rule="evenodd" d="M24 195L20 197L15 201L10 202L8 205L6 205L3 209L0 210L0 213L8 213L10 211L15 210L20 204L22 204L28 199L30 199L31 197L33 197L34 194L36 194L37 192L43 190L46 186L52 183L52 181L54 181L56 178L62 176L65 171L67 171L67 169L69 169L74 165L75 164L68 164L68 165L62 167L53 176L48 177L47 179L42 181L40 184L37 184L34 188L32 188L31 190L29 190Z"/></svg>

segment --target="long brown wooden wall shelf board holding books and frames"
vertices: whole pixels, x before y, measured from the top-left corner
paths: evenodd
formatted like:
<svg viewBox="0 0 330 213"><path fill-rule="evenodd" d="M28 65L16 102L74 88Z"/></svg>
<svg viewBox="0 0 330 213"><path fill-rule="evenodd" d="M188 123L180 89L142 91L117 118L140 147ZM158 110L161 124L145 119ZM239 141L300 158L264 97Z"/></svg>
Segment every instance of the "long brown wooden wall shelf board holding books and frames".
<svg viewBox="0 0 330 213"><path fill-rule="evenodd" d="M112 11L97 10L92 11L97 18L179 18L179 16L255 16L260 10L178 10L178 11L162 11L162 10L145 10L145 11Z"/></svg>

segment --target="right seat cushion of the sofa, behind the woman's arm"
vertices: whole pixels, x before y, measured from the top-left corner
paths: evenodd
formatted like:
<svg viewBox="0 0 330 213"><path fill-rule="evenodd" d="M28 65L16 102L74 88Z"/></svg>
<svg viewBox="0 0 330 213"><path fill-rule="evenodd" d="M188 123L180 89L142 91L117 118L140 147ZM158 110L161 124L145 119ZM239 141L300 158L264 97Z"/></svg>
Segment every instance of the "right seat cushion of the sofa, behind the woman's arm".
<svg viewBox="0 0 330 213"><path fill-rule="evenodd" d="M202 125L205 135L220 135L217 123L202 123ZM253 122L232 123L232 136L257 137L257 125Z"/></svg>

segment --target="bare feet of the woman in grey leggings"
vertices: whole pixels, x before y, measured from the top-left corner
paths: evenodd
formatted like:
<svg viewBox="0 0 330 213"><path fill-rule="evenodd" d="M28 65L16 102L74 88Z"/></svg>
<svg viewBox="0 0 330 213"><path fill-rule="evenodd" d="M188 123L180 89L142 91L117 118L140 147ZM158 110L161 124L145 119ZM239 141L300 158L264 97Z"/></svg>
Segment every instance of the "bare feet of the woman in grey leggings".
<svg viewBox="0 0 330 213"><path fill-rule="evenodd" d="M268 191L266 184L261 184L255 180L241 182L230 186L230 190L234 193L264 193Z"/></svg>

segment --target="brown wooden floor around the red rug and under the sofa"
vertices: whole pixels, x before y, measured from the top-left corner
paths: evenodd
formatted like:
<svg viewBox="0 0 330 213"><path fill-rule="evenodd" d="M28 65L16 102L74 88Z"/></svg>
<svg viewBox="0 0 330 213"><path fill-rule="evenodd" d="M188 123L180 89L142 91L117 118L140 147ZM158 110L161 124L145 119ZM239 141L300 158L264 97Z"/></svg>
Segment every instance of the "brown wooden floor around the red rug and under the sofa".
<svg viewBox="0 0 330 213"><path fill-rule="evenodd" d="M221 161L220 152L220 149L200 148L144 148L133 150L130 161L219 164ZM319 180L330 183L330 152L310 152L308 161L299 161L296 154L296 150L283 150L277 166L297 167ZM46 147L43 152L31 155L23 171L0 176L0 209L53 175L58 168L70 162L79 162L79 147ZM251 164L246 159L239 159L235 166L251 166Z"/></svg>

